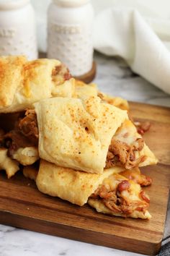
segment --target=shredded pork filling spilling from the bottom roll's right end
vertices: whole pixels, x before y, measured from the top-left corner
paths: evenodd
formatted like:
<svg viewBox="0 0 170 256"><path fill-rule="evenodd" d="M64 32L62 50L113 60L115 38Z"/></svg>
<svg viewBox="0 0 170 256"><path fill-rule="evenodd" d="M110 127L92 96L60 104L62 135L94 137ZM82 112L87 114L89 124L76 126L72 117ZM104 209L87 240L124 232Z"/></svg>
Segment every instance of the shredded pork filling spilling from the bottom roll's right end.
<svg viewBox="0 0 170 256"><path fill-rule="evenodd" d="M104 185L100 185L91 198L102 200L103 204L112 210L114 213L122 213L125 216L132 214L135 210L148 210L149 198L145 192L140 192L141 200L127 200L122 196L122 191L130 189L130 182L128 180L120 182L115 190L110 190Z"/></svg>

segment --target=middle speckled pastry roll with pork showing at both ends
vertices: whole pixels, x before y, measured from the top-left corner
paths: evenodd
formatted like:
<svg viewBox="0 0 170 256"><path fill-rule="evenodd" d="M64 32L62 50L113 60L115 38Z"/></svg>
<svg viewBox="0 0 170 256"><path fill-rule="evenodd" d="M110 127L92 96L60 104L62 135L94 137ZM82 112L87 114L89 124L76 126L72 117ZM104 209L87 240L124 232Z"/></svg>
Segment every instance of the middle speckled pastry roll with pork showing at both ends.
<svg viewBox="0 0 170 256"><path fill-rule="evenodd" d="M4 135L3 146L24 165L40 155L58 166L91 173L102 173L104 167L155 164L155 155L127 118L125 111L99 98L53 98L27 110Z"/></svg>

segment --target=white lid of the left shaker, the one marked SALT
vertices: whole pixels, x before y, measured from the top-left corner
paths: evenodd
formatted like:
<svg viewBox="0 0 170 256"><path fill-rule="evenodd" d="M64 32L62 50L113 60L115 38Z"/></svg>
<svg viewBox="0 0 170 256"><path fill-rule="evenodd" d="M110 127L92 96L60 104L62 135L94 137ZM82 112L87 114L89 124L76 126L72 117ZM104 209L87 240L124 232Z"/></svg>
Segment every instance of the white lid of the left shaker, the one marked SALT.
<svg viewBox="0 0 170 256"><path fill-rule="evenodd" d="M18 9L29 3L30 0L0 0L0 10Z"/></svg>

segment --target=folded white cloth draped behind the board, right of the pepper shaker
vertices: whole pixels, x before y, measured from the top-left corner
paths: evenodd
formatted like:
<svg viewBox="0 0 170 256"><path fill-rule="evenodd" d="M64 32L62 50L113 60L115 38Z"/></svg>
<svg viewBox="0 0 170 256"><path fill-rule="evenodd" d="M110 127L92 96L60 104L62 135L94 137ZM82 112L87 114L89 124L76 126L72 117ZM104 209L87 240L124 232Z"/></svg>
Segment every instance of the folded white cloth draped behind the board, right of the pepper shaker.
<svg viewBox="0 0 170 256"><path fill-rule="evenodd" d="M94 48L121 56L135 73L170 93L170 52L137 10L99 12L94 22Z"/></svg>

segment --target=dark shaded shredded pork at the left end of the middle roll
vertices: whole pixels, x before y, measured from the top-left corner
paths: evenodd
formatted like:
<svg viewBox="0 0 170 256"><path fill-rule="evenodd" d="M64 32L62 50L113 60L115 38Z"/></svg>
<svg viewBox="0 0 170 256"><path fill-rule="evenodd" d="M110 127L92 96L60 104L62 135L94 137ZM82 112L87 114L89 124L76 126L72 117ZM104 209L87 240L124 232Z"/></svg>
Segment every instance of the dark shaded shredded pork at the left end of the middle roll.
<svg viewBox="0 0 170 256"><path fill-rule="evenodd" d="M19 148L37 146L37 116L34 110L27 110L24 118L19 118L12 131L0 135L0 146L8 148L7 155L12 157Z"/></svg>

